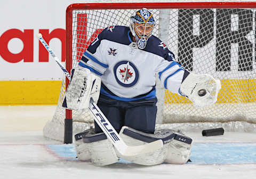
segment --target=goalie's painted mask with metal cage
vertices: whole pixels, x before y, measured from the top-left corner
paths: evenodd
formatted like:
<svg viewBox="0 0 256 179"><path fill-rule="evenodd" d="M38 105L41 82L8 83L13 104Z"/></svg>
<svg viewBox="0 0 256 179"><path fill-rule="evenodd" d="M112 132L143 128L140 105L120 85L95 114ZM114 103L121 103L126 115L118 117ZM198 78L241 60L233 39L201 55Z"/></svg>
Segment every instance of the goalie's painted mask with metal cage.
<svg viewBox="0 0 256 179"><path fill-rule="evenodd" d="M131 17L130 29L140 49L146 47L147 40L152 35L154 25L155 20L153 14L146 8L137 11L136 14Z"/></svg>

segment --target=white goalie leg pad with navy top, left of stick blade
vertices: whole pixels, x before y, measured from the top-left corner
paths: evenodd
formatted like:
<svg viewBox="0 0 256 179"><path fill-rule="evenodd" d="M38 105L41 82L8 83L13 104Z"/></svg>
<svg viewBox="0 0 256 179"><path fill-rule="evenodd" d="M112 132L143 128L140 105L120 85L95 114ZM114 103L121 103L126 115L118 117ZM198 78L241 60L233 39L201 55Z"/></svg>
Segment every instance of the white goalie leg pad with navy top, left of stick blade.
<svg viewBox="0 0 256 179"><path fill-rule="evenodd" d="M82 137L82 141L81 140ZM79 160L91 159L95 166L105 166L118 161L113 144L107 139L104 133L95 134L94 131L87 130L81 135L76 134L77 157ZM78 141L78 142L77 142ZM77 145L76 145L77 146Z"/></svg>

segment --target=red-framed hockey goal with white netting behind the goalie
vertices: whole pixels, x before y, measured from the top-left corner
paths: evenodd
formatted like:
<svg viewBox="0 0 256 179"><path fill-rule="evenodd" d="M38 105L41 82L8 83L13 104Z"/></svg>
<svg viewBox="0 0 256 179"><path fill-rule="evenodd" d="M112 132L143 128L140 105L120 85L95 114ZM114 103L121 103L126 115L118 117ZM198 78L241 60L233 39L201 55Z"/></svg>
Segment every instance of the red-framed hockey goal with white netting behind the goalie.
<svg viewBox="0 0 256 179"><path fill-rule="evenodd" d="M255 2L71 4L66 12L67 70L76 66L102 29L129 26L129 18L143 7L154 15L153 35L163 40L182 66L196 74L210 74L222 84L217 103L200 109L185 97L159 92L163 87L157 84L161 104L157 104L156 128L193 132L223 127L226 131L256 132ZM159 46L164 48L164 44ZM60 141L65 118L69 124L73 119L73 133L93 124L87 111L65 113L61 107L66 80L53 119L44 127L46 137Z"/></svg>

